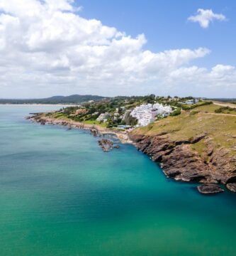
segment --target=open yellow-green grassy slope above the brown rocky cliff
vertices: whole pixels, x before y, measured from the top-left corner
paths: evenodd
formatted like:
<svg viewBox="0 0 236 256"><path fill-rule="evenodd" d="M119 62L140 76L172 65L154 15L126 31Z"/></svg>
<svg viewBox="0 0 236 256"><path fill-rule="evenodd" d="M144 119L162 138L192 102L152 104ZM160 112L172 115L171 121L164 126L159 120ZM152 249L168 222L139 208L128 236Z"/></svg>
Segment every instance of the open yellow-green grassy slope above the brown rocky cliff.
<svg viewBox="0 0 236 256"><path fill-rule="evenodd" d="M182 112L179 116L167 117L147 127L136 129L135 132L147 135L168 132L169 138L173 141L190 139L206 132L213 139L215 147L223 146L230 150L230 154L235 154L233 148L236 139L232 135L236 136L236 117L215 114L218 108L219 106L216 105L196 107L191 111ZM203 153L204 148L203 141L193 145L193 149L200 154Z"/></svg>

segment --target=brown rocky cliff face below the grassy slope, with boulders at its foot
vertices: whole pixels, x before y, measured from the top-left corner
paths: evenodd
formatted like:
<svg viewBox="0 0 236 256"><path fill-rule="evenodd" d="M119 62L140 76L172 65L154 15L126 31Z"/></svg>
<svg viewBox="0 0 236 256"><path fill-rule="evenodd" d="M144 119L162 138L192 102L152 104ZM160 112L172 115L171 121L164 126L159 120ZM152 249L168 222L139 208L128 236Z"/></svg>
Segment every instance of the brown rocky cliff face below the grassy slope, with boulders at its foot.
<svg viewBox="0 0 236 256"><path fill-rule="evenodd" d="M130 134L137 149L160 163L164 174L176 181L203 183L198 191L203 194L223 192L225 186L236 192L236 156L228 156L225 148L213 147L207 134L200 134L191 140L173 142L168 134L145 136ZM191 145L201 140L206 142L207 148L203 156L191 149Z"/></svg>

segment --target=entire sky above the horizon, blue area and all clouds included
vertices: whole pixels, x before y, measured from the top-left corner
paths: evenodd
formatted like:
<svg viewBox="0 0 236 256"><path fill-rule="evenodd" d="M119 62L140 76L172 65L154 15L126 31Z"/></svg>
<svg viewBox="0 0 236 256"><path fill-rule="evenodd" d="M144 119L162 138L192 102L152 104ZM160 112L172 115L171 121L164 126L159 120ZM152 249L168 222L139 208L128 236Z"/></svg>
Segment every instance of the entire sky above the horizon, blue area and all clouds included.
<svg viewBox="0 0 236 256"><path fill-rule="evenodd" d="M235 0L0 0L0 98L236 97Z"/></svg>

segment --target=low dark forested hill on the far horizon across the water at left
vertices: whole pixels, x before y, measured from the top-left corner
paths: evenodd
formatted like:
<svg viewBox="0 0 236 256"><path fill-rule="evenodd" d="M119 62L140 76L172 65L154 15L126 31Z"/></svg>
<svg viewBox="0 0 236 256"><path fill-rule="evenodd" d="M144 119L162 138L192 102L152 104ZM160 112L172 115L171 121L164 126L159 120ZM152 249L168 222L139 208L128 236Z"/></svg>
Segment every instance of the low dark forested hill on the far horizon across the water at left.
<svg viewBox="0 0 236 256"><path fill-rule="evenodd" d="M98 95L69 95L69 96L53 96L43 99L0 99L0 104L73 104L82 103L89 100L102 100L106 97Z"/></svg>

